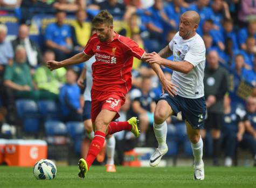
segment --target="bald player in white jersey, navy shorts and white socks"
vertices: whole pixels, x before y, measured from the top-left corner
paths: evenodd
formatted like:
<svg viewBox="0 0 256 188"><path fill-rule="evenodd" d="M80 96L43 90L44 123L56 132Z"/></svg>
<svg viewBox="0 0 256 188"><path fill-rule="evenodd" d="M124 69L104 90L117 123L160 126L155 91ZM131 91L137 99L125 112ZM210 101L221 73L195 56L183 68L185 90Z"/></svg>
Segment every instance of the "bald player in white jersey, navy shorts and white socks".
<svg viewBox="0 0 256 188"><path fill-rule="evenodd" d="M181 16L179 31L158 54L153 52L147 62L162 76L161 66L174 70L171 82L177 85L172 92L163 93L157 102L154 114L154 131L158 148L150 157L150 166L156 166L168 151L166 144L167 123L170 115L182 112L194 161L194 179L204 179L203 141L199 130L204 127L206 113L204 99L205 45L196 33L200 17L196 11L186 11ZM165 58L174 55L174 61Z"/></svg>

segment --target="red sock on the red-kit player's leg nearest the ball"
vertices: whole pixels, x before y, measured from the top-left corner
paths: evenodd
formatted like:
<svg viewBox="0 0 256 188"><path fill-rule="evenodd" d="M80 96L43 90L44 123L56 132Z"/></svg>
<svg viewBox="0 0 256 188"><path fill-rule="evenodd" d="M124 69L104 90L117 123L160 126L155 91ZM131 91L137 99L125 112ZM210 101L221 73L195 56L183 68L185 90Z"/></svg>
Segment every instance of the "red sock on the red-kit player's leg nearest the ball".
<svg viewBox="0 0 256 188"><path fill-rule="evenodd" d="M103 144L105 142L105 133L102 133L101 131L96 131L94 133L94 138L92 140L92 143L90 145L87 157L86 157L86 163L88 165L88 169L90 168L91 164L95 160L96 156L99 154L101 148L103 147Z"/></svg>

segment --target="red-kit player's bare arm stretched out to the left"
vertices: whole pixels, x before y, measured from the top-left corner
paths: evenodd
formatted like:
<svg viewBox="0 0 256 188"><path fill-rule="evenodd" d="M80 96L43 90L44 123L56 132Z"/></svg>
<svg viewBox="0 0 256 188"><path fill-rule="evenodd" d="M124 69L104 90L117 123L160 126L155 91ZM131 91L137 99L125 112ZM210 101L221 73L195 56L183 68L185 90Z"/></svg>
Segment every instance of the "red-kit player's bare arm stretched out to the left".
<svg viewBox="0 0 256 188"><path fill-rule="evenodd" d="M52 71L52 70L60 68L60 67L80 64L81 62L85 62L90 58L91 58L90 55L86 55L84 52L80 52L80 53L74 55L73 57L65 59L63 61L59 61L59 62L58 61L48 61L47 67Z"/></svg>

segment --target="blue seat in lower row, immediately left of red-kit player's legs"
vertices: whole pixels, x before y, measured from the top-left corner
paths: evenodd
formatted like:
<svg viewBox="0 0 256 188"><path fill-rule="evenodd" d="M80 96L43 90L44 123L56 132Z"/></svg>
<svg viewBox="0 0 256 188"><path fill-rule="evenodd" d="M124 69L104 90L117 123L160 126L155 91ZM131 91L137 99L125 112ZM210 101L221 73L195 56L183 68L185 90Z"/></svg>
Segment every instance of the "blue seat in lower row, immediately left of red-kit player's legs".
<svg viewBox="0 0 256 188"><path fill-rule="evenodd" d="M81 138L84 135L84 124L82 122L69 121L66 123L68 135L72 137L73 140Z"/></svg>

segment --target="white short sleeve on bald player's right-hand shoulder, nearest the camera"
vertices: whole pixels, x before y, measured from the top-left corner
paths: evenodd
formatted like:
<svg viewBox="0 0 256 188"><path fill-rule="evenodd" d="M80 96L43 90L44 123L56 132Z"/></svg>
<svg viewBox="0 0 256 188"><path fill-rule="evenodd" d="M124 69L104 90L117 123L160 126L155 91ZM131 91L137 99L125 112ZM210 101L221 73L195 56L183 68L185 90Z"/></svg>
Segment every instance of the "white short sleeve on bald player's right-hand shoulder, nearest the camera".
<svg viewBox="0 0 256 188"><path fill-rule="evenodd" d="M204 43L196 43L189 47L185 55L184 61L190 62L194 67L205 60L205 46Z"/></svg>

